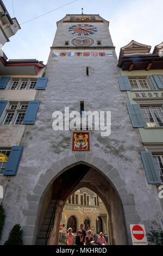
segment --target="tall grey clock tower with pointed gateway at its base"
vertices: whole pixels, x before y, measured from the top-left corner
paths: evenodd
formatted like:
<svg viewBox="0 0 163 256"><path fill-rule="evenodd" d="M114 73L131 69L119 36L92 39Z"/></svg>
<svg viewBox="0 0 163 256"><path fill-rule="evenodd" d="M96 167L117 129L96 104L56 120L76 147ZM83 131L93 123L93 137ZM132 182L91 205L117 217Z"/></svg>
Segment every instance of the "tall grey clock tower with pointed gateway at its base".
<svg viewBox="0 0 163 256"><path fill-rule="evenodd" d="M137 182L141 189L145 187L145 179L136 176L141 173L145 178L140 161L143 147L139 131L130 125L129 101L120 90L117 63L109 21L82 14L66 15L57 22L44 74L47 85L37 92L40 107L34 127L28 125L24 132L23 162L18 170L26 176L26 191L30 191L23 223L27 223L27 231L33 227L29 234L24 233L31 244L58 245L64 205L83 187L96 193L105 205L110 245L131 244L130 224L143 220L139 209L145 204L141 197L135 200L133 196ZM111 112L111 134L103 136L101 129L94 129L94 120L93 129L88 124L72 130L71 123L65 121L67 107L70 121L74 111L81 117L83 111L94 115ZM58 130L53 129L56 112L61 112L64 120ZM33 200L37 202L31 213ZM84 212L87 220L90 209L80 206L77 210ZM35 218L27 216L28 212Z"/></svg>

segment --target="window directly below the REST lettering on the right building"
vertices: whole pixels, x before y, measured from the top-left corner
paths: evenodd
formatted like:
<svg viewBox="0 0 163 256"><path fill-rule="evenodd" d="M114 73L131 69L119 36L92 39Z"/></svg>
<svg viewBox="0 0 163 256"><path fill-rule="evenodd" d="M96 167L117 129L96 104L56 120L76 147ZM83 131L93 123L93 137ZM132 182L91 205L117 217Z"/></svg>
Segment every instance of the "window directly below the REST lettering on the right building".
<svg viewBox="0 0 163 256"><path fill-rule="evenodd" d="M141 112L148 127L163 126L163 111L161 107L142 107Z"/></svg>

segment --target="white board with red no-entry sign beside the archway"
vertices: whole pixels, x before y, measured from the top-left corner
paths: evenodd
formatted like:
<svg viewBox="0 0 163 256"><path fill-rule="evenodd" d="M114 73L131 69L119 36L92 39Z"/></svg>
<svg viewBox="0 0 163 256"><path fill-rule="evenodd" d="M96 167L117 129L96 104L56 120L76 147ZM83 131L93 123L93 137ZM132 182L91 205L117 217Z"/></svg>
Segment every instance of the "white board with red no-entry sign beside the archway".
<svg viewBox="0 0 163 256"><path fill-rule="evenodd" d="M133 245L148 245L146 230L144 225L131 224L131 237Z"/></svg>

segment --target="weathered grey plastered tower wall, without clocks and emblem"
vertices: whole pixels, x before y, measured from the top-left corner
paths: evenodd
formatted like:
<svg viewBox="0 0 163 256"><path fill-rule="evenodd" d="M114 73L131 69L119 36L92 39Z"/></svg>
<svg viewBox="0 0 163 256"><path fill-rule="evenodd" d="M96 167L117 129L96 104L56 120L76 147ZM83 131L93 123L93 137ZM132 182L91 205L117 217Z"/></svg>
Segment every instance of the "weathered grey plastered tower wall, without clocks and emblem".
<svg viewBox="0 0 163 256"><path fill-rule="evenodd" d="M121 72L109 22L94 15L96 20L86 24L98 28L92 35L96 44L74 47L70 44L73 35L68 28L83 21L72 21L70 16L58 22L45 71L47 87L35 97L41 101L39 112L35 125L27 125L23 133L20 142L23 154L17 175L1 178L1 184L7 188L3 200L7 217L1 243L13 225L20 223L24 245L35 245L51 200L53 182L81 163L90 170L74 191L86 186L101 197L109 214L110 244L131 244L130 224L145 224L148 231L152 221L162 215L157 188L147 182L140 156L144 148L139 130L131 126L127 93L121 93L118 84L117 76ZM65 46L66 40L68 46ZM98 40L101 45L97 44ZM53 52L59 53L57 57L53 57ZM81 52L82 56L61 57L61 52ZM86 57L84 52L110 54ZM86 67L89 67L89 76ZM64 112L65 107L70 107L70 112L80 111L80 101L84 101L85 111L111 111L111 135L101 137L100 131L90 131L90 152L84 153L72 151L73 131L52 129L53 112ZM61 210L67 199L59 205L49 244L58 244Z"/></svg>

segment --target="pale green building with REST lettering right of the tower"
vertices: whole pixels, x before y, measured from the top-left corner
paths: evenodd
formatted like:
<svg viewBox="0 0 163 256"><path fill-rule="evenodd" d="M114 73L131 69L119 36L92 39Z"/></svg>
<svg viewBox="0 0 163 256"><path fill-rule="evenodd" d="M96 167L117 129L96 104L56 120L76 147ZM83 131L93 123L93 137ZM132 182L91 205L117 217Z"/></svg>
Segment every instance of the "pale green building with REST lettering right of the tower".
<svg viewBox="0 0 163 256"><path fill-rule="evenodd" d="M118 59L121 92L127 92L132 126L138 128L144 151L142 162L148 184L160 192L163 182L163 43L151 46L132 40L121 48ZM163 208L163 200L160 198ZM162 223L162 212L158 214Z"/></svg>

